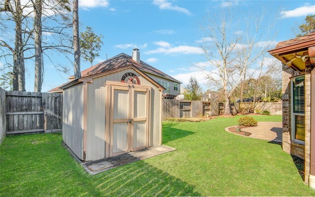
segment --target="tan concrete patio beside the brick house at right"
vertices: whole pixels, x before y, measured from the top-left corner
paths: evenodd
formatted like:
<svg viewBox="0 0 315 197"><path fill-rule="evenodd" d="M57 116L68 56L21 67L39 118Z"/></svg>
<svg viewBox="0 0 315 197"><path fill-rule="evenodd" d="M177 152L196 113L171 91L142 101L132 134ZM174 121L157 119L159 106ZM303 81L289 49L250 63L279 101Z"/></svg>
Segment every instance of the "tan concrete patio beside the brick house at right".
<svg viewBox="0 0 315 197"><path fill-rule="evenodd" d="M228 131L228 128L225 131ZM241 131L252 133L247 137L282 143L282 122L258 122L258 126L244 128Z"/></svg>

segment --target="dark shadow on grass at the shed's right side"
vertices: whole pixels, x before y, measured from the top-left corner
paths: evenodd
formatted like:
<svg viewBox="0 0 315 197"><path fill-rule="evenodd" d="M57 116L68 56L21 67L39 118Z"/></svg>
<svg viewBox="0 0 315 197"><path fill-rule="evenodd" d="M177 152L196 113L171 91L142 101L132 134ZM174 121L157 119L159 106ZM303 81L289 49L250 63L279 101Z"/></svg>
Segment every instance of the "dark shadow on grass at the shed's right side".
<svg viewBox="0 0 315 197"><path fill-rule="evenodd" d="M163 124L163 144L195 133L193 131L186 131L174 128L174 126L176 126L177 124L178 123Z"/></svg>

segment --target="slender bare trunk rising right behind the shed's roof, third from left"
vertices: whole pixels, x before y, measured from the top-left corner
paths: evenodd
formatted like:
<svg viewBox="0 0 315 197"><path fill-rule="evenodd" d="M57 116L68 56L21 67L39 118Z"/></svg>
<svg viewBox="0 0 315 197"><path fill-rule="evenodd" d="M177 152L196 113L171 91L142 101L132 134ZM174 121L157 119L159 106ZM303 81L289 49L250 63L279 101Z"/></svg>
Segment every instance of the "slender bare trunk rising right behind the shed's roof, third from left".
<svg viewBox="0 0 315 197"><path fill-rule="evenodd" d="M80 70L80 36L79 36L79 3L73 0L73 48L74 48L74 78L81 77Z"/></svg>

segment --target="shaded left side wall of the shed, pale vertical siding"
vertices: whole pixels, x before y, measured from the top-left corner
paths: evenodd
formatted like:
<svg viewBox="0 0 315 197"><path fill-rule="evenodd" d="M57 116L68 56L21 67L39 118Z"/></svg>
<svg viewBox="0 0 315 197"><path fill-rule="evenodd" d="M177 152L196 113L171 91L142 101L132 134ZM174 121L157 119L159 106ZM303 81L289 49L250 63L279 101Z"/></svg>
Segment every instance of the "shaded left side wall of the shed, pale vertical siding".
<svg viewBox="0 0 315 197"><path fill-rule="evenodd" d="M63 141L72 152L83 159L83 85L63 91Z"/></svg>

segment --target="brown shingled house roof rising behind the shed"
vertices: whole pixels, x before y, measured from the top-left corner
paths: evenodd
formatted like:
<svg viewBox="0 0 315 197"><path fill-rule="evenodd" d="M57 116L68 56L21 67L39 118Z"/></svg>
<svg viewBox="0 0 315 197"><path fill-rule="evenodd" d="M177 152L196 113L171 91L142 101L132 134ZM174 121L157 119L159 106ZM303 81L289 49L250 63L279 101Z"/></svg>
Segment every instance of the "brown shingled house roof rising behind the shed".
<svg viewBox="0 0 315 197"><path fill-rule="evenodd" d="M141 71L152 73L152 74L161 76L163 78L169 79L171 81L176 81L178 83L181 83L180 81L174 79L173 77L169 76L168 74L165 74L164 72L158 70L157 68L155 68L153 66L148 65L147 63L145 63L143 61L140 61L140 63L138 63L138 62L132 60L132 57L125 54L125 53L121 53L117 56L114 56L114 57L104 61L104 62L98 63L95 66L92 66L88 69L81 71L81 76L87 77L90 75L95 75L98 73L106 72L109 70L121 68L124 66L129 66L129 65L133 65ZM69 79L73 79L73 78L74 78L74 76L69 77Z"/></svg>

